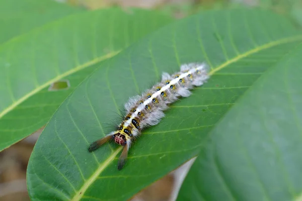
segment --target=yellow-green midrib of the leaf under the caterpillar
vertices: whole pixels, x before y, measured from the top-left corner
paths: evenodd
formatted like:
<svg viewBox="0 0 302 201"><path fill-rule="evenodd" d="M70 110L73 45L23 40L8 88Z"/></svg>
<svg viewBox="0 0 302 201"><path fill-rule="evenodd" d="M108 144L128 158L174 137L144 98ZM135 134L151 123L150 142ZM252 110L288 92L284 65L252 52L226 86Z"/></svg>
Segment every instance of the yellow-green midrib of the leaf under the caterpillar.
<svg viewBox="0 0 302 201"><path fill-rule="evenodd" d="M268 49L277 45L281 45L284 43L289 43L289 42L294 42L294 41L298 41L298 40L302 40L302 35L296 35L293 37L287 37L287 38L283 38L280 40L276 40L276 41L272 41L269 43L266 43L264 45L261 46L257 46L254 49L251 49L243 54L239 54L236 57L234 57L233 59L229 59L226 60L225 62L223 62L222 64L220 64L219 66L217 66L216 68L214 68L213 70L211 70L209 72L209 75L213 75L215 72L223 69L224 67L230 65L231 63L234 63L244 57L247 57L251 54L257 53L261 50L264 49ZM80 190L73 196L73 198L71 199L72 201L78 201L80 200L83 195L85 194L85 191L88 189L88 187L98 178L98 176L103 172L103 170L114 160L114 158L116 157L116 155L120 152L120 150L122 149L122 147L119 147L113 154L111 154L109 156L109 158L102 163L98 169L95 171L95 173L92 174L92 176L83 184L83 186L80 188Z"/></svg>

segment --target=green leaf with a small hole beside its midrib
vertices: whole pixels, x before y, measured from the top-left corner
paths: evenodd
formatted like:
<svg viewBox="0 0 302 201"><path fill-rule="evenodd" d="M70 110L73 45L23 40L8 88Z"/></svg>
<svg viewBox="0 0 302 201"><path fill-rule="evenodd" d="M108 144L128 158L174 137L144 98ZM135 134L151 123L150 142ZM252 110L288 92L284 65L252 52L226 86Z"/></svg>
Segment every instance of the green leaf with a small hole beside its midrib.
<svg viewBox="0 0 302 201"><path fill-rule="evenodd" d="M45 125L100 62L171 21L136 9L85 12L0 46L0 151ZM48 90L58 80L70 87Z"/></svg>

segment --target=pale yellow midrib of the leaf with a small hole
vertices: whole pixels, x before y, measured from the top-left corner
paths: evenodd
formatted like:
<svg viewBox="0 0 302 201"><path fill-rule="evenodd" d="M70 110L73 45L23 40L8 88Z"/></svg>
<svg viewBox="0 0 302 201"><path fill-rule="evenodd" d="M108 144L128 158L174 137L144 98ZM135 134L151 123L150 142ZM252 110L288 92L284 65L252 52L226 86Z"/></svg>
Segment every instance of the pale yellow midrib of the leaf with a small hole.
<svg viewBox="0 0 302 201"><path fill-rule="evenodd" d="M26 93L24 96L22 96L21 98L19 98L16 102L13 102L13 104L11 104L9 107L7 107L5 110L3 110L1 113L0 113L0 119L5 116L6 114L8 114L9 112L11 112L13 109L15 109L17 106L19 106L21 103L23 103L26 99L28 99L29 97L31 97L32 95L36 94L37 92L39 92L40 90L42 90L43 88L49 86L50 84L52 84L53 82L56 82L72 73L75 73L75 72L78 72L86 67L89 67L89 66L92 66L98 62L101 62L105 59L109 59L113 56L115 56L116 54L118 54L121 50L118 50L118 51L113 51L113 52L110 52L106 55L103 55L103 56L100 56L100 57L97 57L89 62L86 62L82 65L79 65L79 66L76 66L56 77L54 77L53 79L50 79L48 80L47 82L45 82L44 84L38 86L37 88L31 90L30 92Z"/></svg>

